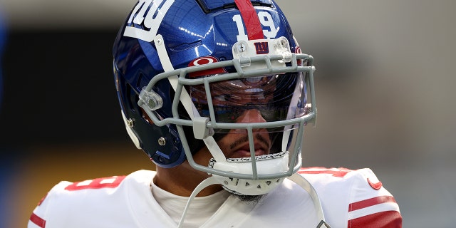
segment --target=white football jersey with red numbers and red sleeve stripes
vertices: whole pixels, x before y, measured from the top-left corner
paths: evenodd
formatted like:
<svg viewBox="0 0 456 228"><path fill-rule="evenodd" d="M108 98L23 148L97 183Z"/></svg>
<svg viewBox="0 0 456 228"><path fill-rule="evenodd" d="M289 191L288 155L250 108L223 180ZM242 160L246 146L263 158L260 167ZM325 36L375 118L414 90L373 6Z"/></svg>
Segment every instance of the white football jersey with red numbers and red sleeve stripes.
<svg viewBox="0 0 456 228"><path fill-rule="evenodd" d="M369 169L299 170L314 186L326 222L338 227L401 227L398 204ZM60 182L38 203L28 228L177 227L150 192L154 171ZM257 203L230 196L201 227L316 227L314 202L284 180Z"/></svg>

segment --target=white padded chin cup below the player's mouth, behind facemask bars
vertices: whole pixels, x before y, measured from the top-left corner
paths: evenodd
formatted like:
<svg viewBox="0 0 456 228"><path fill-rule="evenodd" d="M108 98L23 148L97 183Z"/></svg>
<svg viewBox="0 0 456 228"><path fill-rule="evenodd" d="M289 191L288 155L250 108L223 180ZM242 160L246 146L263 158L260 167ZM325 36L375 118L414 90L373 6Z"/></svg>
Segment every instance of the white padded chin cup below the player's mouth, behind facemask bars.
<svg viewBox="0 0 456 228"><path fill-rule="evenodd" d="M279 152L274 155L261 155L255 157L258 175L269 175L289 170L289 152ZM214 162L215 170L226 172L252 174L252 162L250 157L227 159L226 162ZM233 177L213 175L225 190L237 195L264 195L281 184L284 177L266 180L247 180Z"/></svg>

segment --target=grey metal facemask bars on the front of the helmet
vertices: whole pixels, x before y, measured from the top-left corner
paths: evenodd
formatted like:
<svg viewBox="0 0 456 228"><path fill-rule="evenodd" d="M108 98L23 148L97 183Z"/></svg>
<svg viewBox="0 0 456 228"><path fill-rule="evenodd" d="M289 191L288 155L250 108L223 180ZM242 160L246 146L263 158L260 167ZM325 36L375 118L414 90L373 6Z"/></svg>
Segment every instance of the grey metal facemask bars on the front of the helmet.
<svg viewBox="0 0 456 228"><path fill-rule="evenodd" d="M145 88L140 93L140 100L138 101L138 105L145 110L145 113L149 115L150 119L153 121L155 125L162 126L167 124L174 124L177 126L177 130L181 136L181 142L185 149L185 154L187 155L187 160L190 162L190 165L194 167L196 170L200 170L203 172L208 172L214 175L220 175L224 177L234 177L240 179L249 179L249 180L264 180L264 179L271 179L271 178L278 178L278 177L286 177L292 175L296 172L299 167L301 167L301 161L296 162L297 159L300 160L300 149L301 149L301 142L304 135L304 125L305 123L312 122L316 118L316 105L315 105L315 93L314 93L314 78L313 78L313 71L314 66L312 66L313 58L312 56L301 54L301 53L288 53L288 56L284 55L265 55L265 56L253 56L253 57L244 57L242 61L239 59L233 59L230 61L222 61L217 63L210 63L207 65L199 65L199 66L191 66L187 68L180 68L177 70L172 71L165 71L165 73L160 73L159 75L152 78L152 80L147 84ZM276 61L284 61L284 59L288 60L291 66L282 66L282 67L275 67L272 63ZM160 59L161 60L161 59ZM306 61L308 66L299 66L298 61ZM251 65L255 65L257 63L262 64L266 67L264 68L254 68L254 69L245 69L242 67L245 63L248 62ZM185 78L188 73L197 72L197 71L206 71L212 68L224 68L232 66L234 67L237 72L236 73L227 73L219 76L210 76L207 78L196 78L196 79L189 79ZM184 86L195 86L204 84L206 88L209 88L209 83L217 82L217 81L226 81L226 80L233 80L237 78L249 78L254 76L262 76L262 75L271 75L271 74L281 74L281 73L289 73L289 72L303 72L306 75L306 84L309 86L309 95L311 100L311 108L306 113L306 115L299 117L299 118L292 118L290 120L281 120L269 123L217 123L214 119L214 110L212 108L212 103L209 105L209 118L202 118L199 116L194 116L193 113L188 113L192 120L183 120L180 119L178 113L178 104L180 100L182 103L191 103L191 100L182 100L182 97L188 97L187 91L185 90ZM178 76L178 77L176 77ZM165 118L160 120L157 115L155 115L154 110L161 108L160 105L160 96L155 93L152 88L155 84L163 79L173 78L173 80L177 80L177 87L175 88L175 97L172 103L172 118ZM210 94L210 91L207 91ZM209 95L210 96L210 95ZM210 99L208 98L208 101ZM193 104L192 104L193 105ZM304 108L304 107L303 107ZM256 171L257 169L257 162L254 159L254 155L252 155L252 174L243 174L243 173L233 173L233 172L225 172L222 170L214 170L210 167L202 166L194 162L192 159L192 154L190 152L190 147L188 146L187 139L185 138L184 130L182 126L191 126L196 130L196 132L202 132L199 139L207 139L212 138L211 130L212 129L245 129L249 133L249 136L252 136L252 130L256 128L276 128L279 126L286 126L286 125L299 125L297 129L297 136L296 142L294 145L293 150L291 151L291 157L289 160L289 164L293 167L289 167L286 172L281 173L274 173L274 174L266 174L266 175L259 175ZM212 140L212 144L214 144L214 140ZM253 140L249 138L249 145L252 149L253 147ZM217 145L209 145L208 147L217 147ZM210 148L209 148L210 149ZM212 152L212 151L211 151ZM217 153L217 152L215 152ZM221 153L219 151L218 153ZM212 152L214 155L214 152ZM299 157L299 158L298 158ZM224 156L214 156L217 162L222 161Z"/></svg>

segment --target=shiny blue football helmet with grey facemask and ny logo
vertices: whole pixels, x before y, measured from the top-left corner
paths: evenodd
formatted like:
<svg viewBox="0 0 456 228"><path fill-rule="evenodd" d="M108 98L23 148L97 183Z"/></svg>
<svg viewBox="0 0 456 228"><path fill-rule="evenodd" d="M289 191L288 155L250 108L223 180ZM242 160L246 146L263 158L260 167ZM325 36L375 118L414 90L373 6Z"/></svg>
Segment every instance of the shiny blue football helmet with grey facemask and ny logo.
<svg viewBox="0 0 456 228"><path fill-rule="evenodd" d="M316 119L313 58L274 1L139 0L113 56L128 134L156 165L188 160L244 195L301 167ZM209 165L193 160L203 147Z"/></svg>

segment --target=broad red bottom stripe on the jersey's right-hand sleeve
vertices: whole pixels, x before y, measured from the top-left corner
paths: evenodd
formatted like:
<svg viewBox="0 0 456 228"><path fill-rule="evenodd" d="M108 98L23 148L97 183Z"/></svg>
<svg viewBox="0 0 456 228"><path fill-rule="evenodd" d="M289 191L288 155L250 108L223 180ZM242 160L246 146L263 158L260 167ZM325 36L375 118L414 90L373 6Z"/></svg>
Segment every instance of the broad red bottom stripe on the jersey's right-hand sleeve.
<svg viewBox="0 0 456 228"><path fill-rule="evenodd" d="M396 211L378 212L348 220L347 227L400 228L402 227L402 216Z"/></svg>

